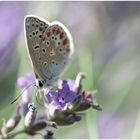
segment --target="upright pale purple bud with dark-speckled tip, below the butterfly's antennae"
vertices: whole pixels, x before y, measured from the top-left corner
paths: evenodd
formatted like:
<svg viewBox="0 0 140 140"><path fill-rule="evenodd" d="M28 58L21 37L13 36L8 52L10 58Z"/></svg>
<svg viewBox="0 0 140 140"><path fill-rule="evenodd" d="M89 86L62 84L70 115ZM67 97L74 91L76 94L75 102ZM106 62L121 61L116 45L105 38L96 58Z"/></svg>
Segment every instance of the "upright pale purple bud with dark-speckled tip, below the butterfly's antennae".
<svg viewBox="0 0 140 140"><path fill-rule="evenodd" d="M36 119L36 114L37 114L34 103L28 104L28 108L29 111L25 116L25 122L24 122L25 127L31 127L34 124Z"/></svg>

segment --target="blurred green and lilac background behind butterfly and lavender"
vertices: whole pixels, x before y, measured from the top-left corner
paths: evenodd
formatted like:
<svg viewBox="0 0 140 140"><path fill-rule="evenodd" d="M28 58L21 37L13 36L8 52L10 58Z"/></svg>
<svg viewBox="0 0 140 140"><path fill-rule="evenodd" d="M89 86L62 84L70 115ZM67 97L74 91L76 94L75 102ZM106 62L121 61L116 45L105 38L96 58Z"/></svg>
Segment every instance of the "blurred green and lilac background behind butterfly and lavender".
<svg viewBox="0 0 140 140"><path fill-rule="evenodd" d="M63 79L85 72L103 111L55 130L56 138L140 138L140 2L0 2L0 127L15 113L16 79L32 67L24 16L58 20L71 32L75 54ZM23 135L23 138L26 138Z"/></svg>

